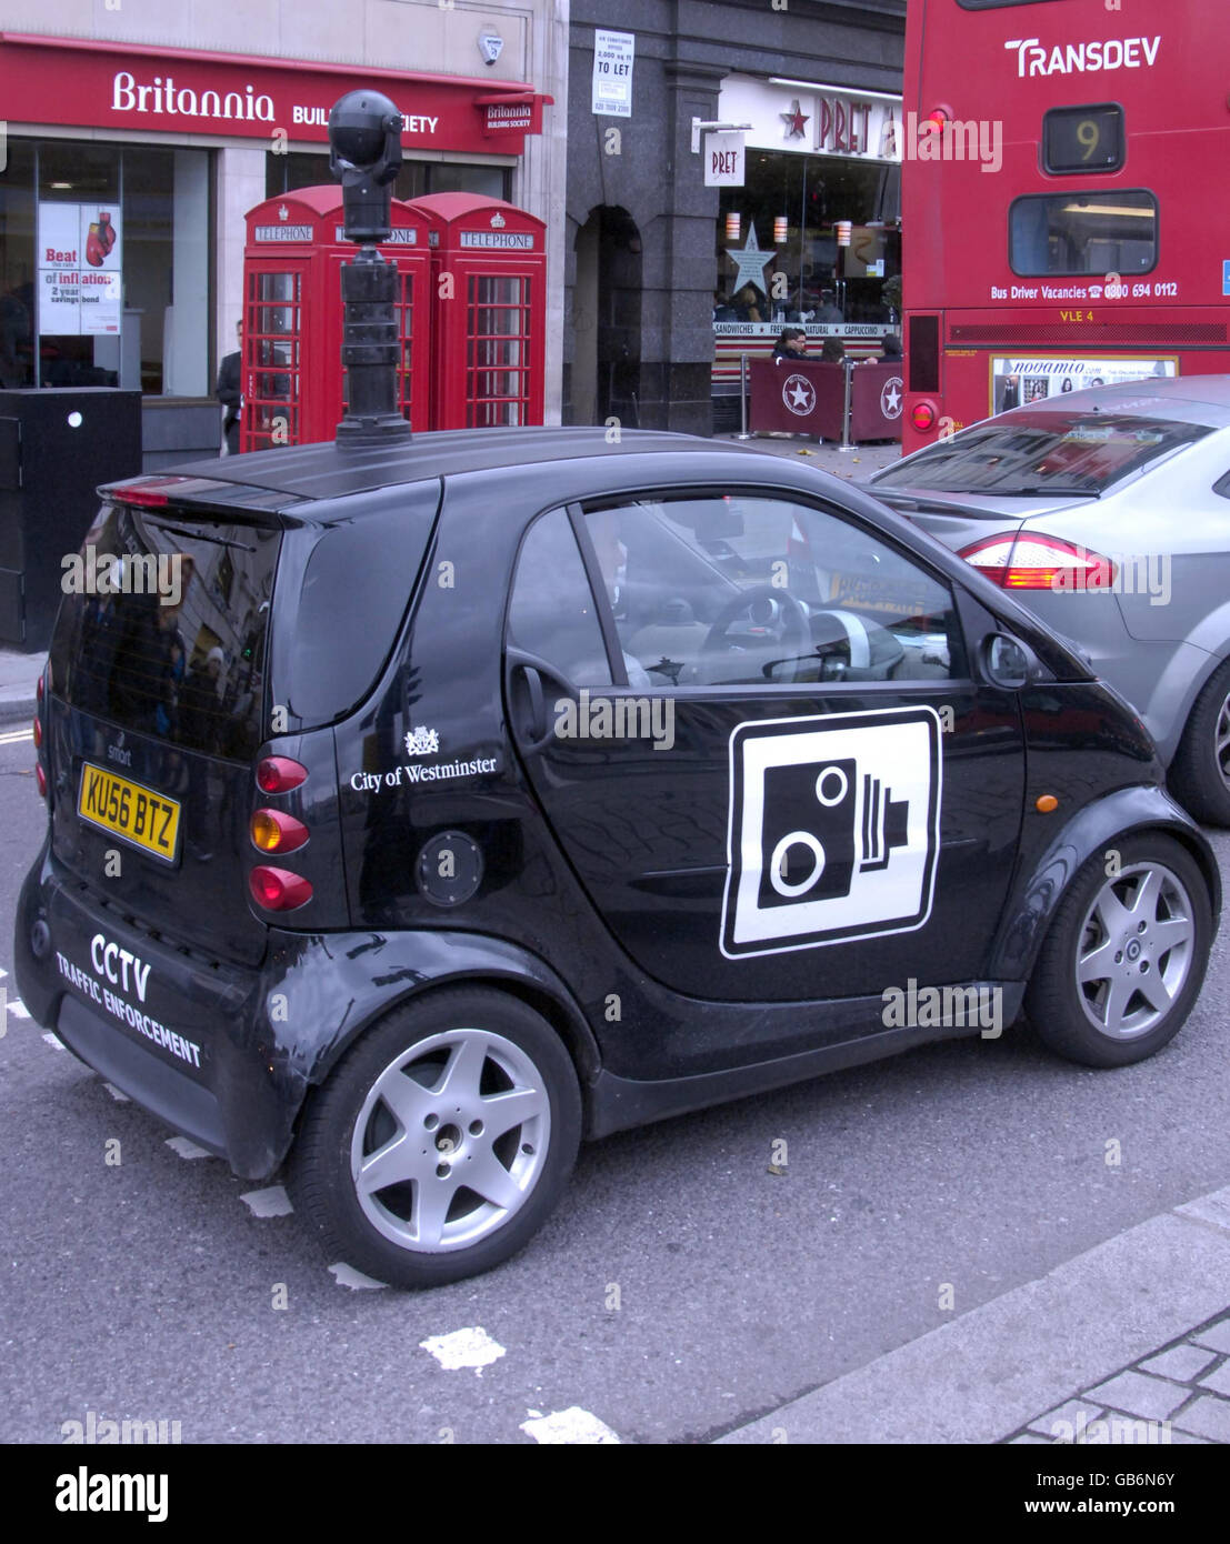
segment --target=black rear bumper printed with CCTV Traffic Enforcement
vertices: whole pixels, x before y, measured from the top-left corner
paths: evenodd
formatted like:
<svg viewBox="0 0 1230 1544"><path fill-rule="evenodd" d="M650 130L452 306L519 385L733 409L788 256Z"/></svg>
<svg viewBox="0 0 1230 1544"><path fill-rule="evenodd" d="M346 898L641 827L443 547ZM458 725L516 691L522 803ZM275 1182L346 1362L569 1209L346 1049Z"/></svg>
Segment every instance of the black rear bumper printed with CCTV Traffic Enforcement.
<svg viewBox="0 0 1230 1544"><path fill-rule="evenodd" d="M22 886L14 962L31 1016L87 1065L236 1175L278 1169L308 1079L269 1022L269 967L168 943L46 848Z"/></svg>

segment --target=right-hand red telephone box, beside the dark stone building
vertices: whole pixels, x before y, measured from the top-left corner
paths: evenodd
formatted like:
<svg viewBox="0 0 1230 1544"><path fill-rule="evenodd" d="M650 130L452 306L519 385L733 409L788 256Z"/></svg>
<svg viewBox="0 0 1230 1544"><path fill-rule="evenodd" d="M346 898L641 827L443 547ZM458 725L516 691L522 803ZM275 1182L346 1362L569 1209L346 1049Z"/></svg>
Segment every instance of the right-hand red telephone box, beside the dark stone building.
<svg viewBox="0 0 1230 1544"><path fill-rule="evenodd" d="M431 249L431 428L542 423L545 224L474 193L406 208Z"/></svg>

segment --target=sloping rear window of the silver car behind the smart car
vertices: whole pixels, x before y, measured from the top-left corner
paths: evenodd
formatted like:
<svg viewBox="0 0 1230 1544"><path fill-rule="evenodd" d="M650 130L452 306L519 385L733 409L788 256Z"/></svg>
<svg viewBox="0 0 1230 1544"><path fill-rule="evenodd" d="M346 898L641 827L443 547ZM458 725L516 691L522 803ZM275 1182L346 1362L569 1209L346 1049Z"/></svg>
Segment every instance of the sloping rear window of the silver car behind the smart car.
<svg viewBox="0 0 1230 1544"><path fill-rule="evenodd" d="M1014 412L919 451L875 486L1097 496L1210 432L1202 423L1128 414Z"/></svg>

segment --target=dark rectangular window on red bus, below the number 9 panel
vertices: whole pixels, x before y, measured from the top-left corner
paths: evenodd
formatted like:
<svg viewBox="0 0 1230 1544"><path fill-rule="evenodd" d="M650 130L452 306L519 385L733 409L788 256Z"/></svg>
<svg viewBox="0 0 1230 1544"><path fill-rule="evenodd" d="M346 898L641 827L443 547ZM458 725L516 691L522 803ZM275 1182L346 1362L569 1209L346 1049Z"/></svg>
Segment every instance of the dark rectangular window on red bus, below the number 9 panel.
<svg viewBox="0 0 1230 1544"><path fill-rule="evenodd" d="M1157 199L1119 188L1014 199L1007 261L1020 275L1148 273L1157 262Z"/></svg>

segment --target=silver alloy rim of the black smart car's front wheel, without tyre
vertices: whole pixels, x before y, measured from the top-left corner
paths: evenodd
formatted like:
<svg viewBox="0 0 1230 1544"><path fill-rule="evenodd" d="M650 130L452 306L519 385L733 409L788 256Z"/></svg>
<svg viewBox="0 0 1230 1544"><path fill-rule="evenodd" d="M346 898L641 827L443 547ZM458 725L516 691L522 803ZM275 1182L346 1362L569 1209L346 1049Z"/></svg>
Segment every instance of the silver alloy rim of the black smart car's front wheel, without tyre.
<svg viewBox="0 0 1230 1544"><path fill-rule="evenodd" d="M1194 959L1191 897L1162 863L1108 879L1080 929L1075 984L1086 1017L1111 1039L1148 1034L1170 1011Z"/></svg>

